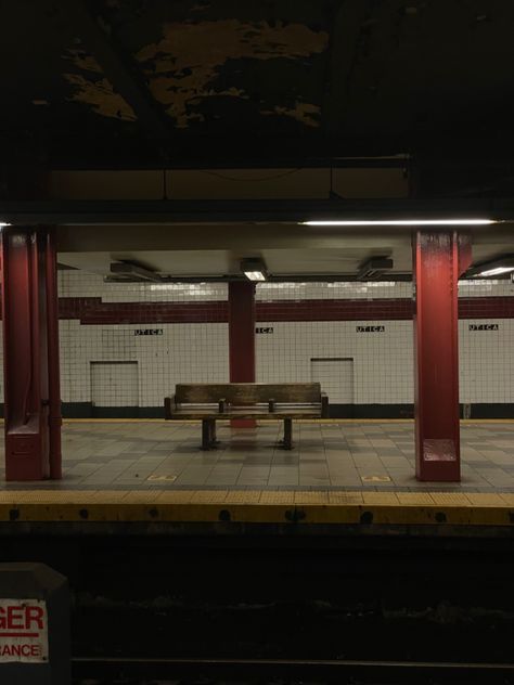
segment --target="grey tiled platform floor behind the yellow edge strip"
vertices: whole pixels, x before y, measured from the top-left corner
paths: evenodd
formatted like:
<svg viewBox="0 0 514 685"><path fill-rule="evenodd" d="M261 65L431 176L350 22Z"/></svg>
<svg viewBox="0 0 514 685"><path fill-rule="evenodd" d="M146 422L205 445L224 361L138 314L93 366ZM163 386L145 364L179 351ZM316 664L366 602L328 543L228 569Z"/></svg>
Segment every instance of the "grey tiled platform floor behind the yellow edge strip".
<svg viewBox="0 0 514 685"><path fill-rule="evenodd" d="M415 480L412 422L295 424L291 452L280 429L220 425L219 449L202 452L200 424L70 422L62 481L5 483L2 465L0 487L514 492L514 422L462 424L461 483Z"/></svg>

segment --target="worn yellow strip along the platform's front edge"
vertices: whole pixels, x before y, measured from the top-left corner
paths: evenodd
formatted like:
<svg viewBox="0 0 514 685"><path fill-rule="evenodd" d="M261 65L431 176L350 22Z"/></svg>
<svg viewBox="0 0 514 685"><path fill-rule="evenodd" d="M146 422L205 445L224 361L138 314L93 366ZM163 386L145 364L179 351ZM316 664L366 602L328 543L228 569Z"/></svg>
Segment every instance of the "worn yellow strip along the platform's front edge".
<svg viewBox="0 0 514 685"><path fill-rule="evenodd" d="M514 494L321 492L323 503L311 494L11 491L0 493L0 522L514 526Z"/></svg>

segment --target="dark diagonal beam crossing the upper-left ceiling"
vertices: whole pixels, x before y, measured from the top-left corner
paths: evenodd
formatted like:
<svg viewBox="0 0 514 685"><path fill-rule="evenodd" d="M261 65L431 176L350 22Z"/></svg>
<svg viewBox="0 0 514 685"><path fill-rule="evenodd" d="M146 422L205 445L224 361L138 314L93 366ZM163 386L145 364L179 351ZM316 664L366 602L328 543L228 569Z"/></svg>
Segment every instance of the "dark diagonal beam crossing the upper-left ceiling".
<svg viewBox="0 0 514 685"><path fill-rule="evenodd" d="M132 107L142 131L149 140L167 141L172 122L160 111L144 80L137 76L136 63L126 56L113 38L113 31L102 18L99 23L83 0L66 0L62 3L68 22L85 47L94 55L113 88Z"/></svg>

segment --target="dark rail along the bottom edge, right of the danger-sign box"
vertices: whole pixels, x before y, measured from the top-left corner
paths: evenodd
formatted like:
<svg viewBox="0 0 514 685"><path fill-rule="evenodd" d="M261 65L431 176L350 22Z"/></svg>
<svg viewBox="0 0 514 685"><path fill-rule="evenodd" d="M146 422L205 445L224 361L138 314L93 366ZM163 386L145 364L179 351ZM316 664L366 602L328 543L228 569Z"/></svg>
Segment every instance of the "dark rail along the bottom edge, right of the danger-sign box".
<svg viewBox="0 0 514 685"><path fill-rule="evenodd" d="M74 685L514 684L514 663L75 658Z"/></svg>

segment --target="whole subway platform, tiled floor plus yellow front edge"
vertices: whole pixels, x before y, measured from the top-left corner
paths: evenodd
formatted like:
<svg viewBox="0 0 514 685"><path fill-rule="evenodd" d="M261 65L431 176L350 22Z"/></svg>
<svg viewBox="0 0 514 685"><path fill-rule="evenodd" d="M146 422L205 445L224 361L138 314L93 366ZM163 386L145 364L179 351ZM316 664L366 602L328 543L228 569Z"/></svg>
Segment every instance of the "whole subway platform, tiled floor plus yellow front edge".
<svg viewBox="0 0 514 685"><path fill-rule="evenodd" d="M415 479L413 422L297 422L292 451L280 429L221 424L204 452L195 422L66 422L63 480L2 473L0 526L514 534L514 422L462 422L459 483Z"/></svg>

